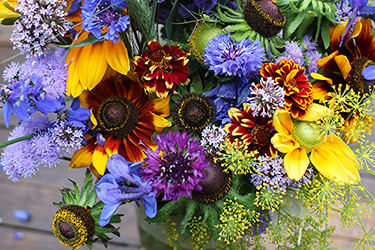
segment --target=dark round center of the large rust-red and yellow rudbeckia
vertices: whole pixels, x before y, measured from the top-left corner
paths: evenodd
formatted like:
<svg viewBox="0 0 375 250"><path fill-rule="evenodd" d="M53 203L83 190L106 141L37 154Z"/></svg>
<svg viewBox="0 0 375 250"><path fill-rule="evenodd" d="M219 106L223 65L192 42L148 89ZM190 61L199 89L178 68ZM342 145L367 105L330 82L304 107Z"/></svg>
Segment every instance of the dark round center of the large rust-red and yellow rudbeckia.
<svg viewBox="0 0 375 250"><path fill-rule="evenodd" d="M137 107L123 96L110 97L98 108L96 119L99 132L123 137L138 123Z"/></svg>

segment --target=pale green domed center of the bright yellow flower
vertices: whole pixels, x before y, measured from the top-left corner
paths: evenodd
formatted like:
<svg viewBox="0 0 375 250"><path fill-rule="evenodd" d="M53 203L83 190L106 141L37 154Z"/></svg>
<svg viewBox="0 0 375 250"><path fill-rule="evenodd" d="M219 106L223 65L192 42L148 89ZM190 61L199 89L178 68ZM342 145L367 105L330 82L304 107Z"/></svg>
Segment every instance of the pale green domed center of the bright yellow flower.
<svg viewBox="0 0 375 250"><path fill-rule="evenodd" d="M313 122L293 120L292 133L307 153L323 142L323 134L316 129Z"/></svg>

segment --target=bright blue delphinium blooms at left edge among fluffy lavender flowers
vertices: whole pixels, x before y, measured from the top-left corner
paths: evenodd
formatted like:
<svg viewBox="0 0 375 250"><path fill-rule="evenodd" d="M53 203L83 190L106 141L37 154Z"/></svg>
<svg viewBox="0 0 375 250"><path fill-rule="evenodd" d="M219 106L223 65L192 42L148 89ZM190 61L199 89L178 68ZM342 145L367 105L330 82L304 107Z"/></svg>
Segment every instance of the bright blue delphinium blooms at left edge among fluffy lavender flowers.
<svg viewBox="0 0 375 250"><path fill-rule="evenodd" d="M5 125L9 127L9 120L15 114L20 121L30 121L33 117L30 114L40 111L44 115L53 113L60 109L61 103L55 99L46 97L43 86L43 77L31 76L31 80L19 81L8 85L8 93L5 96L3 105L3 116Z"/></svg>

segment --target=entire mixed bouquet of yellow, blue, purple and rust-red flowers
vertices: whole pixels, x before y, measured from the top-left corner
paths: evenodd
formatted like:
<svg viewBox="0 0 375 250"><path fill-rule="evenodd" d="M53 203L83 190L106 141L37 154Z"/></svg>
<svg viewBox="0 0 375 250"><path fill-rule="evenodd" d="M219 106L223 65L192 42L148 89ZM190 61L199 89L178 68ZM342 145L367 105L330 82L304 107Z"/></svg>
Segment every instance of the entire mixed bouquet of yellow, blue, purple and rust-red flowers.
<svg viewBox="0 0 375 250"><path fill-rule="evenodd" d="M61 160L87 168L55 203L62 244L107 246L134 202L173 249L327 249L333 217L362 227L354 247L373 247L367 0L0 7L25 56L3 73L5 123L19 120L3 171L17 182Z"/></svg>

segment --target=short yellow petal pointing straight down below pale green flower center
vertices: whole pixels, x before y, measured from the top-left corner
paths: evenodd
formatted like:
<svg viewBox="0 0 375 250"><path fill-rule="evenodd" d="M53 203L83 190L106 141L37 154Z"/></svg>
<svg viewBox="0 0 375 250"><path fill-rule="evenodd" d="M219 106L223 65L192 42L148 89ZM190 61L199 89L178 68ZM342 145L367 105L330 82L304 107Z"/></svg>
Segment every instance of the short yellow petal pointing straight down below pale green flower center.
<svg viewBox="0 0 375 250"><path fill-rule="evenodd" d="M309 163L306 150L303 148L297 148L287 153L284 158L285 171L288 177L296 181L299 181L305 174Z"/></svg>

